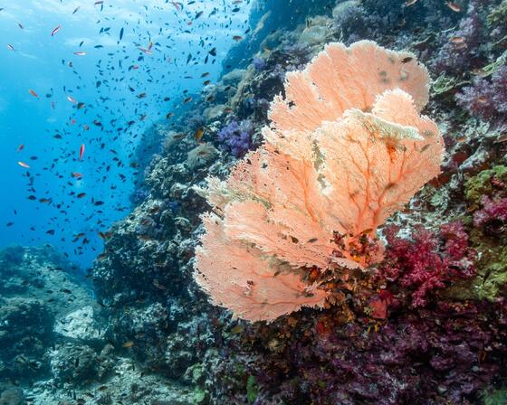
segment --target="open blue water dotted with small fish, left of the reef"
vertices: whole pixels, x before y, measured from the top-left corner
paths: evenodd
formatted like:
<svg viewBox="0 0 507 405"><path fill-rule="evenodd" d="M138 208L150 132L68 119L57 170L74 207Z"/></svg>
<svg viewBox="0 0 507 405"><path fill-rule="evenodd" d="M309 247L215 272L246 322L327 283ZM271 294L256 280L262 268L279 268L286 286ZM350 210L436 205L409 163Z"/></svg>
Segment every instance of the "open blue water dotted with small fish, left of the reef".
<svg viewBox="0 0 507 405"><path fill-rule="evenodd" d="M0 247L48 243L83 267L98 232L129 212L142 133L199 92L202 73L217 78L249 12L247 1L94 3L0 1Z"/></svg>

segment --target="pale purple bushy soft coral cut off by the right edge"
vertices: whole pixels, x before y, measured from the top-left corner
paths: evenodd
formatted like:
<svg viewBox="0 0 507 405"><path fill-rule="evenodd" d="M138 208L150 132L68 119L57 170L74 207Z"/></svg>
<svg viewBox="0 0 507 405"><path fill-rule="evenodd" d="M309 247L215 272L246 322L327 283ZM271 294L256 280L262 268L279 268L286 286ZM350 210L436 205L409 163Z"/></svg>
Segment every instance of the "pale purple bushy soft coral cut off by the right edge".
<svg viewBox="0 0 507 405"><path fill-rule="evenodd" d="M472 86L456 94L456 99L474 117L494 118L507 114L507 66L495 71L491 80L475 78Z"/></svg>

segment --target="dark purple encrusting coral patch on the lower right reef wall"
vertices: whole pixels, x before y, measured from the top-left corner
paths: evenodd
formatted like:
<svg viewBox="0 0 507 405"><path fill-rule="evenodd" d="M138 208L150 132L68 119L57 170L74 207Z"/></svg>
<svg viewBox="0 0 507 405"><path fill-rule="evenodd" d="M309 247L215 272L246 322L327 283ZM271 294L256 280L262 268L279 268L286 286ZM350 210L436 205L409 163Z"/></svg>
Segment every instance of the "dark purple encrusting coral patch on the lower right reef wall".
<svg viewBox="0 0 507 405"><path fill-rule="evenodd" d="M329 333L316 327L312 344L291 342L284 350L291 372L280 384L282 397L342 405L469 403L471 394L499 372L493 359L506 353L506 309L505 303L442 303L400 312L377 332L358 324ZM485 316L495 310L498 321L489 324ZM270 363L270 354L264 354ZM269 369L259 374L276 378Z"/></svg>

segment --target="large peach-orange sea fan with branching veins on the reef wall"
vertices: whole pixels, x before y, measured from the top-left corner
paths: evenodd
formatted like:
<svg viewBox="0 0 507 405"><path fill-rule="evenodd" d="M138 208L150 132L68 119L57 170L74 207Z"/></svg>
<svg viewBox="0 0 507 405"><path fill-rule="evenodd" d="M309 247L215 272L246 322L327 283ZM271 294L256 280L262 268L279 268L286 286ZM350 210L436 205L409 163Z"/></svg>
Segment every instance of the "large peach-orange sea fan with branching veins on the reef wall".
<svg viewBox="0 0 507 405"><path fill-rule="evenodd" d="M419 111L426 69L374 42L326 47L288 73L265 144L208 179L214 213L196 250L212 301L272 321L328 292L311 273L366 268L383 257L376 230L440 171L443 140Z"/></svg>

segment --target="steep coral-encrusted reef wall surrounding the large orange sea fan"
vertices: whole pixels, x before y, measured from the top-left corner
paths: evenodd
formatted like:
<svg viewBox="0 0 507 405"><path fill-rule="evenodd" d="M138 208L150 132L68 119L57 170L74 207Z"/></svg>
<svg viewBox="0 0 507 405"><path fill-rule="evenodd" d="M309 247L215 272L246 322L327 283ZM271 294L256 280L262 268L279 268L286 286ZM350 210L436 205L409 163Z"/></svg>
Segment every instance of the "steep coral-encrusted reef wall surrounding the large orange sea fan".
<svg viewBox="0 0 507 405"><path fill-rule="evenodd" d="M62 400L71 388L78 398L90 392L87 403L505 403L506 10L505 0L259 1L221 80L158 126L163 139L139 170L138 205L103 235L89 275L100 337L62 341L64 352L43 368L64 389L25 394ZM341 299L270 325L233 320L192 277L199 215L211 208L197 189L262 144L287 71L328 42L361 39L425 63L433 84L423 113L443 133L443 172L387 221L386 259L373 276L356 275L354 288L337 286ZM25 316L33 305L24 303ZM47 333L38 349L54 342Z"/></svg>

